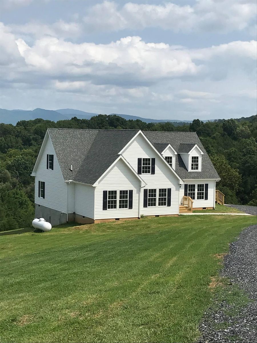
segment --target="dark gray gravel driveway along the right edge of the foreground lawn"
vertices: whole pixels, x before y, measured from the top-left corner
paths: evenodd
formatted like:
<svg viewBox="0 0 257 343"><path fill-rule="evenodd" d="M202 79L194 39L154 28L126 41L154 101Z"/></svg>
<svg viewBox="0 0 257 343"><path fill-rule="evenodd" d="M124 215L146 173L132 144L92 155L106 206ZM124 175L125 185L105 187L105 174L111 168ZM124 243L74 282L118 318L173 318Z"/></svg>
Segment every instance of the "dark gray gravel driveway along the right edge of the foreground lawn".
<svg viewBox="0 0 257 343"><path fill-rule="evenodd" d="M257 342L257 225L244 229L230 244L220 274L229 278L232 292L237 286L248 300L231 305L225 300L228 294L217 297L199 326L199 342Z"/></svg>

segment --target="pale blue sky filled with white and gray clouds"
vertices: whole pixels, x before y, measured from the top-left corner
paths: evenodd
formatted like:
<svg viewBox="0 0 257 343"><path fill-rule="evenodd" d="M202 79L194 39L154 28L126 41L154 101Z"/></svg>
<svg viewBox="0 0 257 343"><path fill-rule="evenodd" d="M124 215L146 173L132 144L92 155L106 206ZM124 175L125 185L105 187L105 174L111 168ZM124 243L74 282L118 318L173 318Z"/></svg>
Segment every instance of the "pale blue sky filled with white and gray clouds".
<svg viewBox="0 0 257 343"><path fill-rule="evenodd" d="M256 1L0 1L0 108L256 114Z"/></svg>

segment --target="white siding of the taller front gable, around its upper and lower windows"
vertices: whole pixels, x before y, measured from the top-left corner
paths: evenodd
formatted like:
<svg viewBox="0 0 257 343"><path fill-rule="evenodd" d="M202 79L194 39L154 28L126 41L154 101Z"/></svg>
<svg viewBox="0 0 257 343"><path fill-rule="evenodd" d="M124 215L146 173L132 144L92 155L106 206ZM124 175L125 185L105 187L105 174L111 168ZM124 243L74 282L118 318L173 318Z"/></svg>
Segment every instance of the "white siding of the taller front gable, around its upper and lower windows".
<svg viewBox="0 0 257 343"><path fill-rule="evenodd" d="M142 135L138 135L135 140L122 153L132 168L137 171L137 158L155 158L155 174L142 174L140 177L146 182L142 188L140 197L141 214L161 215L178 214L179 208L179 179L172 173L170 168L162 160L152 147L146 142ZM144 208L144 189L171 188L171 206L154 206ZM158 192L158 191L157 191ZM157 193L158 198L158 193ZM158 199L157 199L158 205Z"/></svg>

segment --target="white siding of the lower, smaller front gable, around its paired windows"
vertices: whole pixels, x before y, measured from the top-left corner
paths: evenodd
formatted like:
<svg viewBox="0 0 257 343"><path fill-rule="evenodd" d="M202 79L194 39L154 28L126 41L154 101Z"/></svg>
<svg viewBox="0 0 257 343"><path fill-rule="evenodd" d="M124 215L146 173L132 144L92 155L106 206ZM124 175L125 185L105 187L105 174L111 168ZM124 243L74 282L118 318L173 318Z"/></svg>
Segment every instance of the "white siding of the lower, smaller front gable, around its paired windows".
<svg viewBox="0 0 257 343"><path fill-rule="evenodd" d="M120 159L99 181L95 190L95 218L133 218L138 217L138 197L140 181ZM103 191L117 191L117 208L103 210ZM133 190L133 208L120 209L120 191ZM143 206L143 205L142 205Z"/></svg>

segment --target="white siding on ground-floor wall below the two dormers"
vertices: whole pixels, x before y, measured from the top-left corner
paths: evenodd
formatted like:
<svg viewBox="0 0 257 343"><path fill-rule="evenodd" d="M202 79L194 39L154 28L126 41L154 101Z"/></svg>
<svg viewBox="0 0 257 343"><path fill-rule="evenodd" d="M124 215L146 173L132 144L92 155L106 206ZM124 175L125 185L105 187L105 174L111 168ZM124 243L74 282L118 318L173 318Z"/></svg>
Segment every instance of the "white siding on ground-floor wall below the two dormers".
<svg viewBox="0 0 257 343"><path fill-rule="evenodd" d="M193 208L198 208L198 207L213 207L213 203L215 201L214 199L214 188L216 181L215 180L184 180L185 184L188 185L195 185L195 200L193 200ZM197 185L204 185L205 189L205 184L208 184L208 200L204 199L197 199ZM183 186L183 193L182 189L180 192L180 204L182 202L182 198L184 195L184 185ZM181 187L182 188L182 187ZM204 194L205 198L205 194Z"/></svg>

